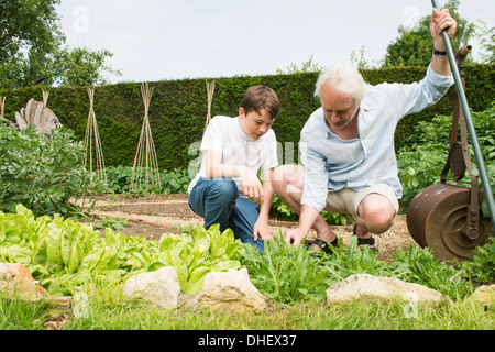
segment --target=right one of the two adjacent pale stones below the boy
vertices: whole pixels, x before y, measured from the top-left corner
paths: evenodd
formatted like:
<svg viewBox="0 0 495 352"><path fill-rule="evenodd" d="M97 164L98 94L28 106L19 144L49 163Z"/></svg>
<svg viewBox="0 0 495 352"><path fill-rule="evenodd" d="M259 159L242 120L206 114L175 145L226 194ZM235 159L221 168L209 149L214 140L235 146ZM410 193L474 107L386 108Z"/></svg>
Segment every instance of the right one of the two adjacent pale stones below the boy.
<svg viewBox="0 0 495 352"><path fill-rule="evenodd" d="M208 273L196 305L199 309L228 309L242 314L264 310L266 298L251 283L248 270L241 268Z"/></svg>

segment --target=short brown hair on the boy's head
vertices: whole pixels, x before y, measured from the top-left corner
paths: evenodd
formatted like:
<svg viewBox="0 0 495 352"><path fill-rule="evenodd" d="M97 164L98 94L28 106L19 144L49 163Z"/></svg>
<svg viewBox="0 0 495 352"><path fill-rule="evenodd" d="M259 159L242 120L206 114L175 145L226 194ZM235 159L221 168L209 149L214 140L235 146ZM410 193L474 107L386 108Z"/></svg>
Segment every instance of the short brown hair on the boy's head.
<svg viewBox="0 0 495 352"><path fill-rule="evenodd" d="M253 86L249 88L241 101L241 108L245 114L251 111L260 113L266 110L272 116L272 120L280 113L280 102L277 94L266 86Z"/></svg>

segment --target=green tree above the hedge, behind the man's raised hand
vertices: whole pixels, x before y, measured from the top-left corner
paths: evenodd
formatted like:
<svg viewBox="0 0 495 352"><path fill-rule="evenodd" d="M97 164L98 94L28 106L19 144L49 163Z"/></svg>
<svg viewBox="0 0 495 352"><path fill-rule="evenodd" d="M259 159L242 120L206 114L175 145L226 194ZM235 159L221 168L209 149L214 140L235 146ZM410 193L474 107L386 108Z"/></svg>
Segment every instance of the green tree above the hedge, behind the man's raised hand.
<svg viewBox="0 0 495 352"><path fill-rule="evenodd" d="M458 22L455 36L452 38L454 52L469 44L469 40L475 31L475 25L462 19L457 12L460 0L449 0L444 6ZM431 62L431 52L433 50L430 21L431 14L421 18L418 25L414 29L407 29L400 25L398 28L399 36L387 47L383 67L428 66Z"/></svg>

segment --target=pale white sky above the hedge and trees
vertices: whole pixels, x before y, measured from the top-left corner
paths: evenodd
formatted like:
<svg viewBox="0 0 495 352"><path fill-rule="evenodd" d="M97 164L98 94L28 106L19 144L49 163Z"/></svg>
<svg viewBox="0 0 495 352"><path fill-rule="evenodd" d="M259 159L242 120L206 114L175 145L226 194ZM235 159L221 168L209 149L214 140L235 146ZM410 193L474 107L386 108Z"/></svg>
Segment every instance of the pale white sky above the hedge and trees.
<svg viewBox="0 0 495 352"><path fill-rule="evenodd" d="M441 8L446 0L438 0ZM308 62L383 59L399 25L430 14L430 0L62 0L70 47L108 50L119 81L272 75ZM494 0L461 0L459 13L495 26ZM476 57L479 46L473 45Z"/></svg>

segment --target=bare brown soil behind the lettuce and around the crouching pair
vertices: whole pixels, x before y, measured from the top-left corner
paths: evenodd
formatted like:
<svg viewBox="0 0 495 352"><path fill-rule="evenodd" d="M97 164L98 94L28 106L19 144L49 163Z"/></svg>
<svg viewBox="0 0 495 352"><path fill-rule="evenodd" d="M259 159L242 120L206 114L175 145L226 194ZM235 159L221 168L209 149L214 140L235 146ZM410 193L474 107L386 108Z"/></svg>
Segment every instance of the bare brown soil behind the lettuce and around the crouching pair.
<svg viewBox="0 0 495 352"><path fill-rule="evenodd" d="M105 218L117 219L124 229L114 231L129 235L145 235L148 240L158 240L164 233L183 233L188 227L202 223L187 204L186 195L145 196L130 198L120 195L97 197L90 205L79 200L79 206L92 215L91 222L101 222ZM272 232L285 231L297 223L270 220ZM352 240L353 224L332 226L334 233L349 246ZM314 230L308 238L314 238ZM398 248L407 249L415 243L406 224L406 216L397 215L394 226L385 233L374 235L378 246L378 258L385 262L393 260L392 254Z"/></svg>

